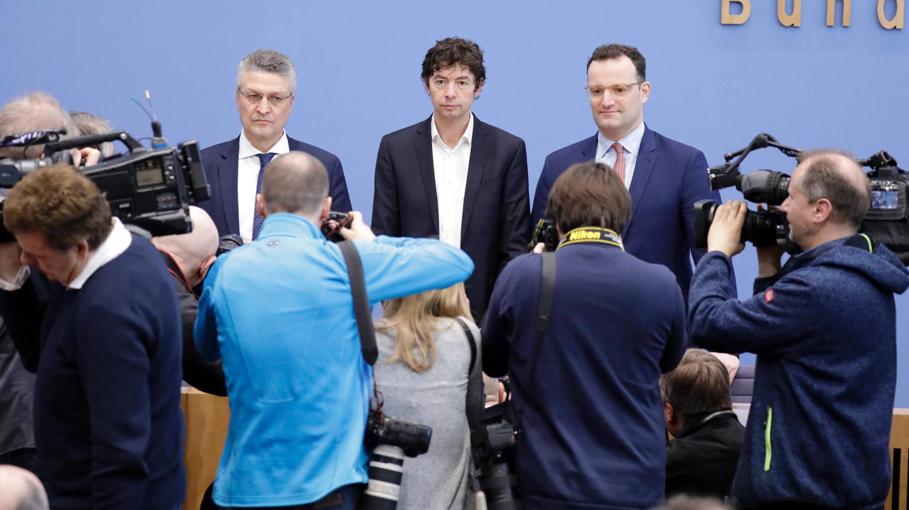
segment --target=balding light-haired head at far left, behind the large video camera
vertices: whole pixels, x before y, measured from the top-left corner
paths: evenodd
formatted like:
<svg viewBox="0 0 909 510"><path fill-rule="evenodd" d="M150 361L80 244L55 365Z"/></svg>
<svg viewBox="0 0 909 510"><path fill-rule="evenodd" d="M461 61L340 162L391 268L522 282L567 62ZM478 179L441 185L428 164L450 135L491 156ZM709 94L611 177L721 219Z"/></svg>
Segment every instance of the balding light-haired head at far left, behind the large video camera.
<svg viewBox="0 0 909 510"><path fill-rule="evenodd" d="M56 99L44 92L33 92L17 97L0 108L0 137L22 135L40 129L66 128L63 138L79 135L72 117L63 109ZM0 149L0 157L35 158L44 152L44 145L34 145L23 155L21 148L7 147Z"/></svg>

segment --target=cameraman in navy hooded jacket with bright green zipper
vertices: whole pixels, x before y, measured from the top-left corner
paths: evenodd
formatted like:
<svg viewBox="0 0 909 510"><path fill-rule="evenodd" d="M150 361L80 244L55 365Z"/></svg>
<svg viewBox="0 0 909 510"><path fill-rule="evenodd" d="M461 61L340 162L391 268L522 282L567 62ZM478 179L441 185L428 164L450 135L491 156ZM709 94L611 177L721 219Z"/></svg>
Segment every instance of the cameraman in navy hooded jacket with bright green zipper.
<svg viewBox="0 0 909 510"><path fill-rule="evenodd" d="M724 282L746 205L716 211L709 253L689 300L695 344L758 355L754 397L732 495L743 508L883 508L890 485L896 384L894 293L909 271L858 234L871 185L855 158L799 158L781 205L804 250L758 247L754 296L727 299Z"/></svg>

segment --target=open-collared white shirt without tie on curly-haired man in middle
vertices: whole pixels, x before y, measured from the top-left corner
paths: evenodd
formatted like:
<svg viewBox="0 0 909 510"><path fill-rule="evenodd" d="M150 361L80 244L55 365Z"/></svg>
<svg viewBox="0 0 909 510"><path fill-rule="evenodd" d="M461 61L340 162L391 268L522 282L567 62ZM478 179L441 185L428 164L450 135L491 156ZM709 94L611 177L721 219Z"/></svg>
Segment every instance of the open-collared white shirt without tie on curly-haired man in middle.
<svg viewBox="0 0 909 510"><path fill-rule="evenodd" d="M474 114L470 114L467 129L454 147L442 141L439 130L435 128L435 114L429 125L433 136L435 195L439 200L439 239L460 248L464 189L467 187L470 146L474 139Z"/></svg>

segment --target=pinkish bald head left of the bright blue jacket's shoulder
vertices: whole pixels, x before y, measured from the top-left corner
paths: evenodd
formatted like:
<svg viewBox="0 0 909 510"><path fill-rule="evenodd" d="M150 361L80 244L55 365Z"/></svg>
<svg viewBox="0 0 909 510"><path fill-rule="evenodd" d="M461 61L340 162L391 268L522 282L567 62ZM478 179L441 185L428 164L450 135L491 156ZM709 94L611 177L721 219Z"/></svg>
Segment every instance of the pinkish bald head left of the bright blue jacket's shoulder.
<svg viewBox="0 0 909 510"><path fill-rule="evenodd" d="M152 237L152 244L173 256L189 283L196 285L202 281L205 263L215 257L218 228L211 216L195 205L189 206L189 216L193 220L192 232Z"/></svg>

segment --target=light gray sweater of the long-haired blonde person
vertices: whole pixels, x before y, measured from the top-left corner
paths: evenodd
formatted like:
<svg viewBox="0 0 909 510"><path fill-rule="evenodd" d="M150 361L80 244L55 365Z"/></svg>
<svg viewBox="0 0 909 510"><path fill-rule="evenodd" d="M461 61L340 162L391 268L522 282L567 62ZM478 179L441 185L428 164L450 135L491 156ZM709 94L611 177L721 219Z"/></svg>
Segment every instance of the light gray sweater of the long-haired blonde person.
<svg viewBox="0 0 909 510"><path fill-rule="evenodd" d="M468 489L470 428L483 415L483 362L480 331L466 322L476 345L469 384L470 345L454 319L439 320L435 363L422 373L400 360L387 363L395 348L395 330L375 334L379 347L375 381L385 396L385 415L433 427L429 451L405 459L399 510L474 508Z"/></svg>

